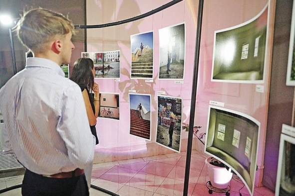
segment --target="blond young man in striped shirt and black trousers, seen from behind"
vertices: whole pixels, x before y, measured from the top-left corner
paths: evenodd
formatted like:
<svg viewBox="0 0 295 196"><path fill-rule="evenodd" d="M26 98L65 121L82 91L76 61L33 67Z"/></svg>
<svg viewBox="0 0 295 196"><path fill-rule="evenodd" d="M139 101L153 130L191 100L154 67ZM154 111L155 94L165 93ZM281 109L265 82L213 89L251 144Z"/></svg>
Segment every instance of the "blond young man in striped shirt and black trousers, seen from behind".
<svg viewBox="0 0 295 196"><path fill-rule="evenodd" d="M24 13L20 41L34 53L0 89L2 145L26 168L23 196L88 196L84 168L92 163L91 135L81 90L64 78L74 27L47 9Z"/></svg>

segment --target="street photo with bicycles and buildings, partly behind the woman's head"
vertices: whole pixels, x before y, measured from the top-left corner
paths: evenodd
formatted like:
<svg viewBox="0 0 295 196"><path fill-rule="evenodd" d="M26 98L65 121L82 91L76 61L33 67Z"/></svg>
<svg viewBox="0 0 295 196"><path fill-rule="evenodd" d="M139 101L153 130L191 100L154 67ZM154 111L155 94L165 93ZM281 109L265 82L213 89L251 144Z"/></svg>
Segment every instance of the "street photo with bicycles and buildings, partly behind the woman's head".
<svg viewBox="0 0 295 196"><path fill-rule="evenodd" d="M95 78L120 79L120 51L82 52L82 58L90 58L95 69Z"/></svg>

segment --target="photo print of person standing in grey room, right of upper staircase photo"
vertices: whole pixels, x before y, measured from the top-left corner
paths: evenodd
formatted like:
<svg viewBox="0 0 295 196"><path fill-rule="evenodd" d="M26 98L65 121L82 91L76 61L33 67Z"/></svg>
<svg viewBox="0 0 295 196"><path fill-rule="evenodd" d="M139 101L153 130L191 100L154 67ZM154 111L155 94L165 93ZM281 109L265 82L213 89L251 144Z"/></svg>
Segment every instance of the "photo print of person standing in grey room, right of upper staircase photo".
<svg viewBox="0 0 295 196"><path fill-rule="evenodd" d="M159 79L183 80L185 24L159 29Z"/></svg>

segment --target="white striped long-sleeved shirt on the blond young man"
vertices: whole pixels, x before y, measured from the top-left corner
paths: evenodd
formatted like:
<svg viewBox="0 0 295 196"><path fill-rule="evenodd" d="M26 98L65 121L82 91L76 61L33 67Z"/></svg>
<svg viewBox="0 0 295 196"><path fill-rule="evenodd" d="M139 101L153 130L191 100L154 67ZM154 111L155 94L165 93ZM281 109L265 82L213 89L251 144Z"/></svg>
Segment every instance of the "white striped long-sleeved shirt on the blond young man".
<svg viewBox="0 0 295 196"><path fill-rule="evenodd" d="M28 58L25 69L0 89L2 146L42 175L92 163L91 134L82 93L53 61Z"/></svg>

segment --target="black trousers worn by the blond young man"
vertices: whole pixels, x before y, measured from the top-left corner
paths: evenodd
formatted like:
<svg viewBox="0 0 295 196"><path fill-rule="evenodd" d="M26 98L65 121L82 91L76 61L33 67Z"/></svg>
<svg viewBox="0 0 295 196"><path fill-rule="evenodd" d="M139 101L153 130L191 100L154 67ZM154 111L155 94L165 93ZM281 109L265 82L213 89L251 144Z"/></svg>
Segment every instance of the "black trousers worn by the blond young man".
<svg viewBox="0 0 295 196"><path fill-rule="evenodd" d="M89 196L85 175L73 178L47 178L29 170L24 173L22 196Z"/></svg>

